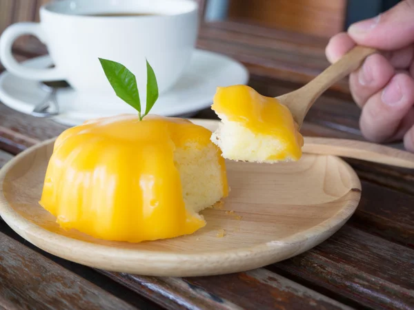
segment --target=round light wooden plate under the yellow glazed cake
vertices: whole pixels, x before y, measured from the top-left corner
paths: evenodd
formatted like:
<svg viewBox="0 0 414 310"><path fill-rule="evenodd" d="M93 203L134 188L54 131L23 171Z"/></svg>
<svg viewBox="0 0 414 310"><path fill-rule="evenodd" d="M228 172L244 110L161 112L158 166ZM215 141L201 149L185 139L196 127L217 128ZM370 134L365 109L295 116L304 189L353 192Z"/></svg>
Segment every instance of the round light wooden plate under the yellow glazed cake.
<svg viewBox="0 0 414 310"><path fill-rule="evenodd" d="M217 124L198 123L211 130ZM224 209L203 211L206 227L167 240L108 242L59 228L38 204L52 145L30 147L1 169L1 217L51 254L111 271L208 276L269 265L326 240L353 214L361 195L357 175L336 156L305 154L297 163L277 165L228 162L230 196Z"/></svg>

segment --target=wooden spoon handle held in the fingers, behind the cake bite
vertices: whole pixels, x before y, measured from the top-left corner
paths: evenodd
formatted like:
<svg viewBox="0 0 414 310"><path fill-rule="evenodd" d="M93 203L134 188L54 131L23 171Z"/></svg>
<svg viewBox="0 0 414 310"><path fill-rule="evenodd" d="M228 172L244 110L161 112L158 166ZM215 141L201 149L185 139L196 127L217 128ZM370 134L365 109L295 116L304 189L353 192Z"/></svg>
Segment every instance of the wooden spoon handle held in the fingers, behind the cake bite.
<svg viewBox="0 0 414 310"><path fill-rule="evenodd" d="M293 118L301 127L308 110L316 99L337 81L344 79L345 76L359 68L362 61L375 52L374 48L356 46L299 90L278 96L276 99L289 108Z"/></svg>

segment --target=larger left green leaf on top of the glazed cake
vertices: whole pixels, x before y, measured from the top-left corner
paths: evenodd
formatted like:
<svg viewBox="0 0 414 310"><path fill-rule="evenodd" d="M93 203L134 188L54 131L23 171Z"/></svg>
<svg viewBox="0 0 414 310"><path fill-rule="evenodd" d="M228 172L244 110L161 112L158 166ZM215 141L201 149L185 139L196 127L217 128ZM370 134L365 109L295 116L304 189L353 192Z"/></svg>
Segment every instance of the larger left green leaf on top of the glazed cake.
<svg viewBox="0 0 414 310"><path fill-rule="evenodd" d="M99 58L99 61L101 62L106 78L115 90L115 94L137 110L139 118L141 119L141 101L139 101L139 92L135 75L124 65L121 65L121 63L101 58Z"/></svg>

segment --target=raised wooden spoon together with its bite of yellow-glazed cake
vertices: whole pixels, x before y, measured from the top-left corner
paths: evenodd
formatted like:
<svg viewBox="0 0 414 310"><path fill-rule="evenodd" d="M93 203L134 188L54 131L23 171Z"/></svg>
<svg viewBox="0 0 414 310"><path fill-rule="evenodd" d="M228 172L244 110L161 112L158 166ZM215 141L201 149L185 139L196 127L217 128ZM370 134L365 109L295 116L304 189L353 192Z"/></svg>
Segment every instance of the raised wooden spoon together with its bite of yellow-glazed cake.
<svg viewBox="0 0 414 310"><path fill-rule="evenodd" d="M306 113L328 87L356 70L375 52L356 46L303 87L276 98L246 85L218 87L212 109L221 118L211 136L224 158L277 163L298 161L304 139L299 129Z"/></svg>

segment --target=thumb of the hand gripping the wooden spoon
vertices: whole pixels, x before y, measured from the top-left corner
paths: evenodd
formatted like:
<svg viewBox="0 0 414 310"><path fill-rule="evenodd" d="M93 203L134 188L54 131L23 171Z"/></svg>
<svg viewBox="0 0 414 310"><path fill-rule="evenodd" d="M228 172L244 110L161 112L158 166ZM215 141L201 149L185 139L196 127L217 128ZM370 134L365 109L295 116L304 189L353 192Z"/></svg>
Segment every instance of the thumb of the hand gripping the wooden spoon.
<svg viewBox="0 0 414 310"><path fill-rule="evenodd" d="M414 0L404 0L383 14L354 23L349 36L359 45L397 50L414 43Z"/></svg>

